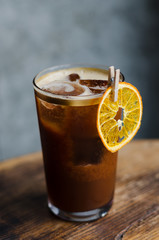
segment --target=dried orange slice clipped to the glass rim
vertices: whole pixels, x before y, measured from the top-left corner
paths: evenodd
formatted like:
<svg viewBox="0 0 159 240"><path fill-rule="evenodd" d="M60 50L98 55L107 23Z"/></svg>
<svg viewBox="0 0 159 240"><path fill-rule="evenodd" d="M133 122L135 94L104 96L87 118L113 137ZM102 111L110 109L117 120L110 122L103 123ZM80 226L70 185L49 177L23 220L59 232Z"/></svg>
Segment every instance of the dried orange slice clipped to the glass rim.
<svg viewBox="0 0 159 240"><path fill-rule="evenodd" d="M130 83L120 82L118 100L113 102L112 87L98 107L97 129L105 147L116 152L136 135L140 128L143 104L139 91Z"/></svg>

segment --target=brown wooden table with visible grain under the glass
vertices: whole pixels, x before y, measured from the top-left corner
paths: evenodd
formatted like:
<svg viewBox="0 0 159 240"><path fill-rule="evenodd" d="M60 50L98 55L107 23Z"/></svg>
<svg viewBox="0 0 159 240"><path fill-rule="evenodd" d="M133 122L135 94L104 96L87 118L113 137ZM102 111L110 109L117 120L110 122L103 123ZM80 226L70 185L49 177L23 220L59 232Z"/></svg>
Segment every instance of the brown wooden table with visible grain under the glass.
<svg viewBox="0 0 159 240"><path fill-rule="evenodd" d="M114 205L89 223L49 212L41 153L0 163L0 239L159 239L159 140L120 150Z"/></svg>

